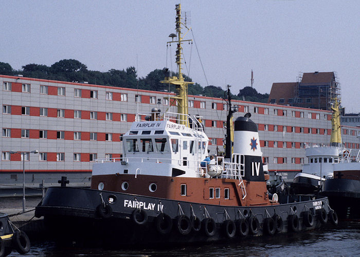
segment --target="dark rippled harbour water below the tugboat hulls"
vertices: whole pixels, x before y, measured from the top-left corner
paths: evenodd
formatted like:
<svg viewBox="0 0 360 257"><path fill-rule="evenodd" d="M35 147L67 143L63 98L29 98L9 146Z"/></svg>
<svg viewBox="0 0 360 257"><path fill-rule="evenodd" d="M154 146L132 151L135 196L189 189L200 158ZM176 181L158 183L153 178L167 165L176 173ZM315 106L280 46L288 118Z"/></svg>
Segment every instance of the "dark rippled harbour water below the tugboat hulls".
<svg viewBox="0 0 360 257"><path fill-rule="evenodd" d="M29 198L35 206L40 199ZM2 199L4 207L20 207L21 199ZM121 231L119 231L121 232ZM12 252L10 256L19 254ZM33 241L26 256L360 256L360 223L340 223L337 227L285 233L272 237L249 237L238 242L211 243L161 249L100 249L61 247Z"/></svg>

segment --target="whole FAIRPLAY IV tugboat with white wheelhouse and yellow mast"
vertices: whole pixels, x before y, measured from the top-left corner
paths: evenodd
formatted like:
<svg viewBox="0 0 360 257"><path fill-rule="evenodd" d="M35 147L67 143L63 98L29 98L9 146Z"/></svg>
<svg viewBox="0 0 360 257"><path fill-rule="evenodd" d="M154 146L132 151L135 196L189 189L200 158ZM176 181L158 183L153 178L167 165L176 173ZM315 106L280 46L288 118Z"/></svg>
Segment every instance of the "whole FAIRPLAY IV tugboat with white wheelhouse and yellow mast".
<svg viewBox="0 0 360 257"><path fill-rule="evenodd" d="M238 117L229 100L226 156L208 155L201 117L188 114L182 75L181 5L176 5L177 113L153 108L122 136L122 159L98 160L91 189L49 188L35 216L44 216L58 241L120 246L164 246L274 235L337 224L327 197L269 198L257 125ZM175 37L174 34L171 36ZM229 92L229 89L228 89ZM233 127L233 131L231 128ZM210 160L211 159L211 160Z"/></svg>

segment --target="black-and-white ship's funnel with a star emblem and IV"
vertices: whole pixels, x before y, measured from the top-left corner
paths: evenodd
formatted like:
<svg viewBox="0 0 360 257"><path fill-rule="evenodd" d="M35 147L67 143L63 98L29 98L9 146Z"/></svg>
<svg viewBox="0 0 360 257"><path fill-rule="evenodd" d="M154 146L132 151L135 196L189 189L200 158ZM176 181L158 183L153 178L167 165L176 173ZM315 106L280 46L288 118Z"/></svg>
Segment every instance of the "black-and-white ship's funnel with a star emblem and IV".
<svg viewBox="0 0 360 257"><path fill-rule="evenodd" d="M245 157L246 180L264 181L258 126L249 117L238 117L235 121L233 152ZM241 159L232 161L239 162Z"/></svg>

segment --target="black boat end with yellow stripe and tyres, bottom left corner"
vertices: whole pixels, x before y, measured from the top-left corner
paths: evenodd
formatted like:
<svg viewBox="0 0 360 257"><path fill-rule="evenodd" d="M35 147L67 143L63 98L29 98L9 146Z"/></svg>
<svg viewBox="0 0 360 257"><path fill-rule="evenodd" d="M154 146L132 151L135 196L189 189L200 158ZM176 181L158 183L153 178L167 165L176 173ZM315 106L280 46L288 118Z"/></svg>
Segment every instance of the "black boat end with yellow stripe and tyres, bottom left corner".
<svg viewBox="0 0 360 257"><path fill-rule="evenodd" d="M28 253L30 240L24 231L10 222L7 214L0 212L0 257L9 255L12 250L20 254Z"/></svg>

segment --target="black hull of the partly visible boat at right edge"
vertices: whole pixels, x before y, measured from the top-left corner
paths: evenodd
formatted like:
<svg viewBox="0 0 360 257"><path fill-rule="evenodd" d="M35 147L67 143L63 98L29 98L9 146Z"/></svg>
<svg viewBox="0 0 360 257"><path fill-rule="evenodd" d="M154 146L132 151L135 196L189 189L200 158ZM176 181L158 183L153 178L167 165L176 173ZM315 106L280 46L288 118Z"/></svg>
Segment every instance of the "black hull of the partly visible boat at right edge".
<svg viewBox="0 0 360 257"><path fill-rule="evenodd" d="M360 221L360 180L327 179L322 183L320 195L329 198L339 219Z"/></svg>

